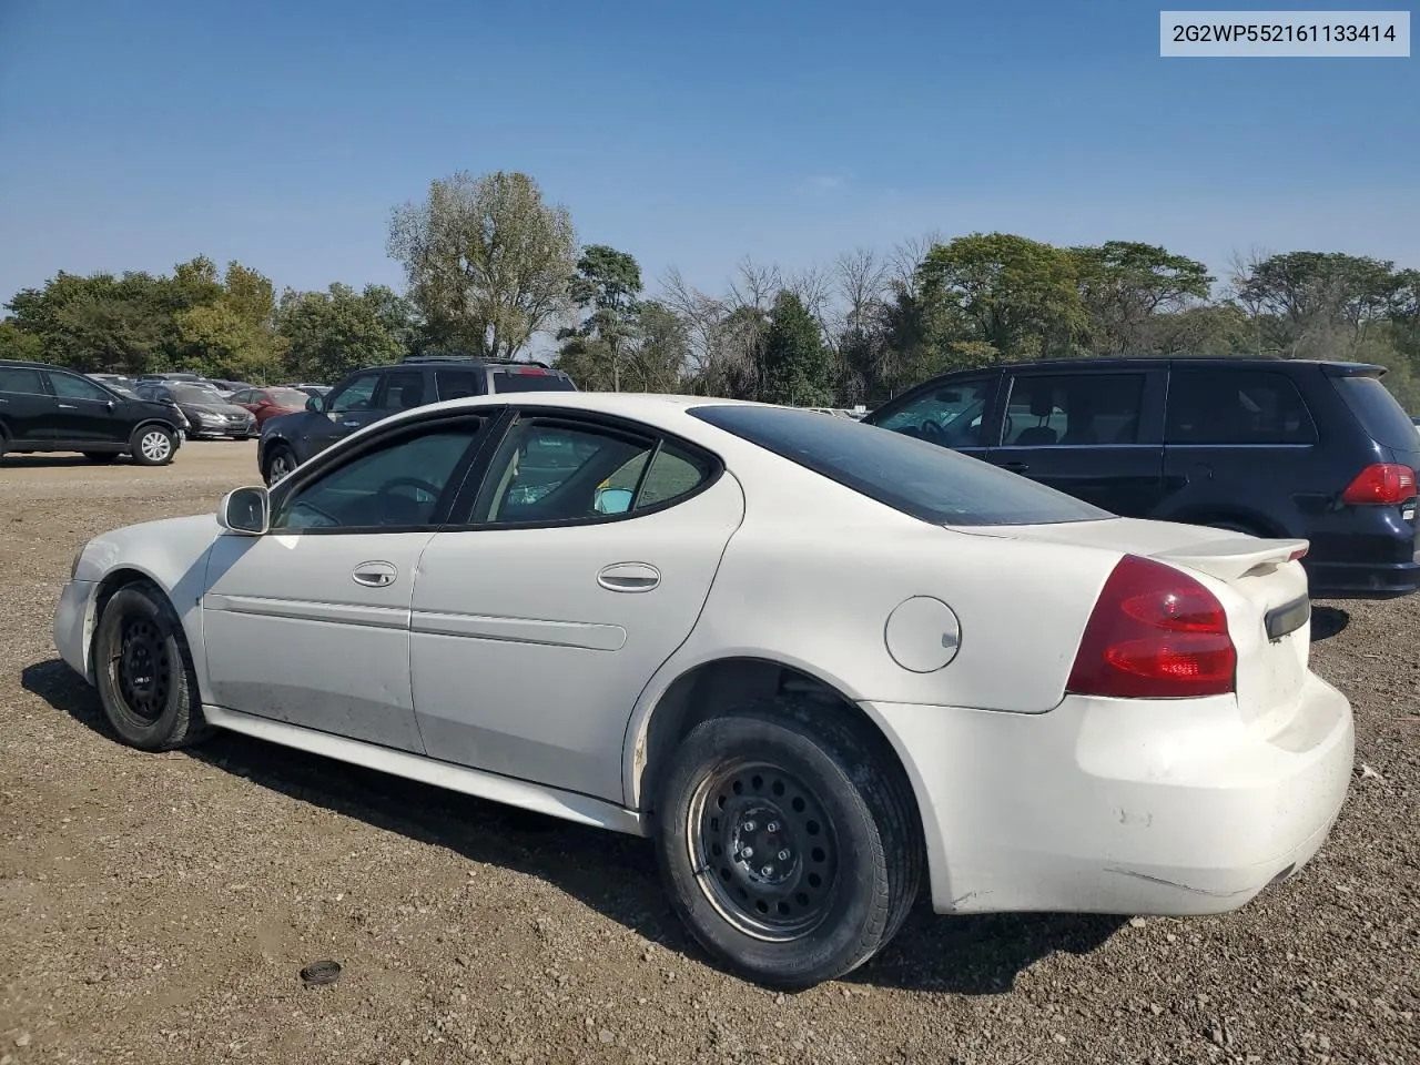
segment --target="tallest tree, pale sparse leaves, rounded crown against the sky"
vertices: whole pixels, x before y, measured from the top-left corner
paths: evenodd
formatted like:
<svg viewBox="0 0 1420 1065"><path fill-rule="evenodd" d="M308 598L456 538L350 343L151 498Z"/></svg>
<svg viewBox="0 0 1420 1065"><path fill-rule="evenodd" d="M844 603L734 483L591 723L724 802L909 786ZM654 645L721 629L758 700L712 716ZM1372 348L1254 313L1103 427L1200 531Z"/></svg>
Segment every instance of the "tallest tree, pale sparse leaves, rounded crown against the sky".
<svg viewBox="0 0 1420 1065"><path fill-rule="evenodd" d="M564 207L500 170L432 182L423 203L395 209L388 248L433 342L510 358L567 314L575 243Z"/></svg>

